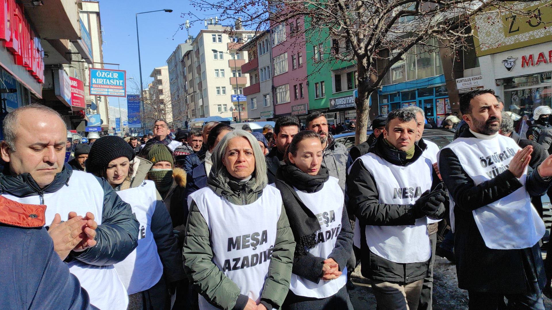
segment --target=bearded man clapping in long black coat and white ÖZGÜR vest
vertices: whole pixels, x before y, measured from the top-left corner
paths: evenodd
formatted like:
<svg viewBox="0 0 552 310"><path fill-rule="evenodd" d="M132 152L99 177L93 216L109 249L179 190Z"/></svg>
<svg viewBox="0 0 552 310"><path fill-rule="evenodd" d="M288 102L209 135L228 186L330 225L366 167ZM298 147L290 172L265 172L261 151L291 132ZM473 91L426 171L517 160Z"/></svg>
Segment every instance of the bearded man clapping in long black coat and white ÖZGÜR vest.
<svg viewBox="0 0 552 310"><path fill-rule="evenodd" d="M458 287L469 308L508 306L544 309L545 282L539 240L544 223L529 195L542 195L552 181L552 157L527 169L533 147L520 149L498 135L500 104L491 89L460 98L469 130L439 153L439 170L454 200Z"/></svg>

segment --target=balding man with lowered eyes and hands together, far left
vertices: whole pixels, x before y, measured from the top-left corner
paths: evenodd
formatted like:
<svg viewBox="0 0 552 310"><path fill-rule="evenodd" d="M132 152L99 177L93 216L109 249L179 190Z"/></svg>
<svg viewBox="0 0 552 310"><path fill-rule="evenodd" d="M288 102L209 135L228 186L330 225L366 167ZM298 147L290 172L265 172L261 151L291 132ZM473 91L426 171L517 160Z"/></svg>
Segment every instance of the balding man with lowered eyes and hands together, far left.
<svg viewBox="0 0 552 310"><path fill-rule="evenodd" d="M3 131L2 196L47 205L54 250L88 291L91 304L103 310L126 309L128 295L113 264L137 246L139 223L130 205L105 179L64 163L67 129L51 108L30 104L15 109L4 119ZM75 217L75 225L56 229Z"/></svg>

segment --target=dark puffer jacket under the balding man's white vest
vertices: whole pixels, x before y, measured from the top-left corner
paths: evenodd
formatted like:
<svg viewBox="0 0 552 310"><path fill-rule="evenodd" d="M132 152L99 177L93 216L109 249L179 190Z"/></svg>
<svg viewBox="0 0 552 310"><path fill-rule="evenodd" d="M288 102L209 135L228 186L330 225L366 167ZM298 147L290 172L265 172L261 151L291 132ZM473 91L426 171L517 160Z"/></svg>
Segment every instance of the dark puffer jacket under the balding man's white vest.
<svg viewBox="0 0 552 310"><path fill-rule="evenodd" d="M8 171L8 166L4 171ZM72 173L71 167L65 164L61 172L56 174L54 181L42 190L29 173L0 174L0 186L2 194L16 197L43 196L47 193L56 193L63 186L68 186L66 184ZM103 178L96 179L104 191L102 225L98 225L96 229L97 244L80 253L71 252L70 256L89 265L113 265L124 260L137 247L139 223L132 214L130 205L119 198L112 186Z"/></svg>

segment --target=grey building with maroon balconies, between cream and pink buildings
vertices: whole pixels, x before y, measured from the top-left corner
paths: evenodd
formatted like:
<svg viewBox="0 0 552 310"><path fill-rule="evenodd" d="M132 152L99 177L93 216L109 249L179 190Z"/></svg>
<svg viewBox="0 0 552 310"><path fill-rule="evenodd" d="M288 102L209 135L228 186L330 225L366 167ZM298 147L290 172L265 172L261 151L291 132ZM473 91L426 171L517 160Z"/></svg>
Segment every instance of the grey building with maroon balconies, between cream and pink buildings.
<svg viewBox="0 0 552 310"><path fill-rule="evenodd" d="M240 51L247 51L248 62L242 65L242 73L249 74L250 85L243 89L247 98L247 116L253 120L273 119L272 104L272 40L270 31L255 36L243 44Z"/></svg>

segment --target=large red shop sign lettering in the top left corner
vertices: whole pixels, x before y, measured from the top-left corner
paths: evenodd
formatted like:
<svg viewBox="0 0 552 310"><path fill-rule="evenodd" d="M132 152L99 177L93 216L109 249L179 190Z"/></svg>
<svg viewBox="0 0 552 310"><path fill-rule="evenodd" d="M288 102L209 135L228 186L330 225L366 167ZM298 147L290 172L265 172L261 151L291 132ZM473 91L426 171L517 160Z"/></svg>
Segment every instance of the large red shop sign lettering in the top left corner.
<svg viewBox="0 0 552 310"><path fill-rule="evenodd" d="M0 40L12 54L14 64L23 66L39 83L44 83L43 50L24 15L23 4L0 1Z"/></svg>

